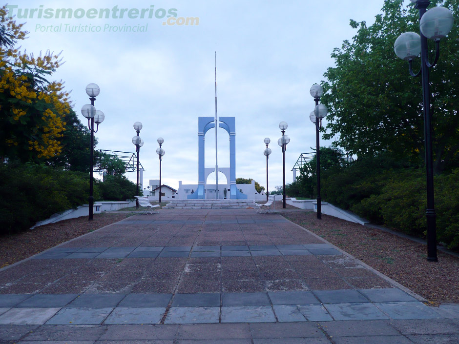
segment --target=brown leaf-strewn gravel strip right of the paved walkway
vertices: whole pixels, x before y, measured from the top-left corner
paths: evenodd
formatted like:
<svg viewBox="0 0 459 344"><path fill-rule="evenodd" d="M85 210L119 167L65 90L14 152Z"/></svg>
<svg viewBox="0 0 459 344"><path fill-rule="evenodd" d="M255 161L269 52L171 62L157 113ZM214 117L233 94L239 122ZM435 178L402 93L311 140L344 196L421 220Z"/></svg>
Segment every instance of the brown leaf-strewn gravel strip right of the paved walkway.
<svg viewBox="0 0 459 344"><path fill-rule="evenodd" d="M438 262L428 262L427 246L379 229L312 212L283 215L430 302L459 303L458 257L438 252Z"/></svg>

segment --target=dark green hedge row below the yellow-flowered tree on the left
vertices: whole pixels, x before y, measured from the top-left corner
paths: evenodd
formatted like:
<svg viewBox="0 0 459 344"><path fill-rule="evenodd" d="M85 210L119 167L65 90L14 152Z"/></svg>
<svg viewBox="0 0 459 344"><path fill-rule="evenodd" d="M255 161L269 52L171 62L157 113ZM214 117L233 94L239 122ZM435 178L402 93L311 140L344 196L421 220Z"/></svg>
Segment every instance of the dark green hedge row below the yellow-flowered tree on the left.
<svg viewBox="0 0 459 344"><path fill-rule="evenodd" d="M86 173L43 165L0 166L0 234L30 228L52 214L87 203ZM96 201L125 201L135 195L135 184L124 177L95 180Z"/></svg>

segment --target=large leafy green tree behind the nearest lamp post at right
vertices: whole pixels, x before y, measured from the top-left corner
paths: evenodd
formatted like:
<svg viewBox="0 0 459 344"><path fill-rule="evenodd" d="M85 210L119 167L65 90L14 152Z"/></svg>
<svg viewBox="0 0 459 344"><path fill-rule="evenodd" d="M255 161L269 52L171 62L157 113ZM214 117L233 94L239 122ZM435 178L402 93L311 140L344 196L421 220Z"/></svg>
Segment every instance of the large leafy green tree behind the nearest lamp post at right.
<svg viewBox="0 0 459 344"><path fill-rule="evenodd" d="M335 145L359 158L390 152L419 164L424 159L422 88L412 78L406 61L394 53L396 38L419 31L418 11L402 0L386 0L382 14L371 26L355 20L352 41L335 48L335 67L328 68L323 82L327 91L321 101L329 108L324 139L337 137ZM459 0L434 0L431 6L448 7L459 22ZM430 72L434 157L437 172L459 165L459 26L440 44L440 60ZM434 44L429 42L431 50ZM431 57L432 59L432 57ZM419 61L414 61L414 69Z"/></svg>

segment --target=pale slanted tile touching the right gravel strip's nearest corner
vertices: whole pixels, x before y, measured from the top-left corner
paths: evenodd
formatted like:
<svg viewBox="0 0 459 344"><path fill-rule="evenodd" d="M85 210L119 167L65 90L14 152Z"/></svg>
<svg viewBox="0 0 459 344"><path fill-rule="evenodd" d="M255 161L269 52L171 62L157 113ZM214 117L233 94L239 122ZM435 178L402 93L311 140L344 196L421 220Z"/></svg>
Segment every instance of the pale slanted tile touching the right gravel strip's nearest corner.
<svg viewBox="0 0 459 344"><path fill-rule="evenodd" d="M433 307L421 302L387 302L375 305L392 319L439 319L441 316Z"/></svg>

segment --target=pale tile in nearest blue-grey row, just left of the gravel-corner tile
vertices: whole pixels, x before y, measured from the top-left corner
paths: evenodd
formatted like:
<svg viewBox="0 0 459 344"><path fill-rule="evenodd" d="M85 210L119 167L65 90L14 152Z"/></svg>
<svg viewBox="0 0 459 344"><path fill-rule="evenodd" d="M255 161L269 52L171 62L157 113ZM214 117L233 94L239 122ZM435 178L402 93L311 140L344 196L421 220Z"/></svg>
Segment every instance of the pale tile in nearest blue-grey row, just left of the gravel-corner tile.
<svg viewBox="0 0 459 344"><path fill-rule="evenodd" d="M389 319L374 304L325 304L334 320L384 320Z"/></svg>

